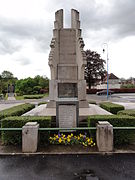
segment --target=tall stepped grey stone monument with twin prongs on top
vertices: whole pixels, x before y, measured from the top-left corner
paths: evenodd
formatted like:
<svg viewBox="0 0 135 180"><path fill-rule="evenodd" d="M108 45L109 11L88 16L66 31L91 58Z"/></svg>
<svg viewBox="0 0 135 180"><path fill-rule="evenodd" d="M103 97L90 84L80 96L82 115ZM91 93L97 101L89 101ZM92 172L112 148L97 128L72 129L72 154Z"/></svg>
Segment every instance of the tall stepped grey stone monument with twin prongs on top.
<svg viewBox="0 0 135 180"><path fill-rule="evenodd" d="M88 107L84 68L86 55L81 37L79 12L71 10L71 28L63 28L63 10L55 13L50 44L48 108L56 108L57 126L76 127L79 108Z"/></svg>

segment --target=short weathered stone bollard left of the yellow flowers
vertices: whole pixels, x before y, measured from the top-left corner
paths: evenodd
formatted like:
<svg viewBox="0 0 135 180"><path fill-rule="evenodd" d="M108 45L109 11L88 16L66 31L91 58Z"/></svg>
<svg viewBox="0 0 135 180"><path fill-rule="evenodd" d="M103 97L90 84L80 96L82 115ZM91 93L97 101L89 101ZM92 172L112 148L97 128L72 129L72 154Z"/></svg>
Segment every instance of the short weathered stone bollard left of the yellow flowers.
<svg viewBox="0 0 135 180"><path fill-rule="evenodd" d="M34 153L37 151L38 128L37 122L28 122L22 127L22 152Z"/></svg>

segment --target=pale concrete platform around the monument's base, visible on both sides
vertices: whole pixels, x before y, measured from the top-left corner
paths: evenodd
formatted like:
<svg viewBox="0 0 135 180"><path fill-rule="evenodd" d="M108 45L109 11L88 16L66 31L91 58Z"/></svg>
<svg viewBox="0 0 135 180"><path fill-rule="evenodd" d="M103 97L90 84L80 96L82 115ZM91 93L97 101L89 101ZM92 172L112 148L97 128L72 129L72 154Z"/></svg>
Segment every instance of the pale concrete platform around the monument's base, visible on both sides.
<svg viewBox="0 0 135 180"><path fill-rule="evenodd" d="M98 105L95 104L89 104L89 108L79 108L79 116L96 114L111 115L110 112L100 108ZM46 108L46 104L43 104L25 113L23 116L56 116L56 109Z"/></svg>

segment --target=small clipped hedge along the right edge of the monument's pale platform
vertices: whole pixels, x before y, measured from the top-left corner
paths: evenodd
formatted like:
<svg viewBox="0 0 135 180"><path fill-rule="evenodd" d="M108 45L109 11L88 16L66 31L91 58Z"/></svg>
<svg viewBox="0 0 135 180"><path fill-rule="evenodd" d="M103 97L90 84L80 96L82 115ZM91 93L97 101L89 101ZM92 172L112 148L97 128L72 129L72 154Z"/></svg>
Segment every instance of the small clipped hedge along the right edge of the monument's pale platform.
<svg viewBox="0 0 135 180"><path fill-rule="evenodd" d="M118 111L124 110L124 106L111 102L102 102L99 105L101 108L111 112L112 114L117 114Z"/></svg>

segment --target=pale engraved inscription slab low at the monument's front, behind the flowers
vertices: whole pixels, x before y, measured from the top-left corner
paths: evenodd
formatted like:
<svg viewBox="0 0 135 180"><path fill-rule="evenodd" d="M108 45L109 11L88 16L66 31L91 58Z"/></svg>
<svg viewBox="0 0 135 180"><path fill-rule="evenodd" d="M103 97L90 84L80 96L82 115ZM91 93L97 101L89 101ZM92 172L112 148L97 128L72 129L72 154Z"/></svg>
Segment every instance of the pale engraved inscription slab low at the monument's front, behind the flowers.
<svg viewBox="0 0 135 180"><path fill-rule="evenodd" d="M76 105L59 105L59 127L76 127Z"/></svg>

